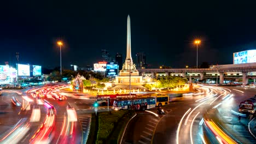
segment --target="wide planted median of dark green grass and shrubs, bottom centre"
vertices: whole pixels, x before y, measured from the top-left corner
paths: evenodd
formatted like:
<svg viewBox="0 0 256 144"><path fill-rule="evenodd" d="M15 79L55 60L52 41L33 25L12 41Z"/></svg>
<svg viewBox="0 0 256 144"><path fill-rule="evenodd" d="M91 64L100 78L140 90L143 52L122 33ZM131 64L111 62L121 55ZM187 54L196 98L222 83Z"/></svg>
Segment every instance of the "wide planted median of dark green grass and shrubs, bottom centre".
<svg viewBox="0 0 256 144"><path fill-rule="evenodd" d="M133 114L134 111L128 110L99 113L96 143L112 143L110 138L118 141L126 124L123 120L129 121Z"/></svg>

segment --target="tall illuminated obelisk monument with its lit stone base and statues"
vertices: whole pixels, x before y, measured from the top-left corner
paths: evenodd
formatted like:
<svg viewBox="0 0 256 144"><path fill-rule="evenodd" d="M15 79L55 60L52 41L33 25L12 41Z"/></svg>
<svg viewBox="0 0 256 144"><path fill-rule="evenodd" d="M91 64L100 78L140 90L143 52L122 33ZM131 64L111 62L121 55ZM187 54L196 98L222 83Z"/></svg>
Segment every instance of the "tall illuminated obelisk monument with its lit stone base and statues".
<svg viewBox="0 0 256 144"><path fill-rule="evenodd" d="M126 40L126 59L123 64L122 70L119 72L119 76L115 77L116 85L129 85L131 80L131 85L141 84L142 76L139 76L136 65L132 62L131 57L131 26L130 26L130 16L127 17L127 40ZM130 76L131 75L131 76Z"/></svg>

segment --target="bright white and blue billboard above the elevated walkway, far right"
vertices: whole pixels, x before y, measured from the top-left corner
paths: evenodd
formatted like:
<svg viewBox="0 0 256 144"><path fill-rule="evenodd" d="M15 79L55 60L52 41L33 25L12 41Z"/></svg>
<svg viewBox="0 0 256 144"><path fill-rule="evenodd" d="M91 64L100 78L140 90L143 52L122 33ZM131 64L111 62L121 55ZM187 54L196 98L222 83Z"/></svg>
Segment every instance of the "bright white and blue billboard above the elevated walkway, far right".
<svg viewBox="0 0 256 144"><path fill-rule="evenodd" d="M256 50L240 51L233 53L233 63L255 63L256 62Z"/></svg>

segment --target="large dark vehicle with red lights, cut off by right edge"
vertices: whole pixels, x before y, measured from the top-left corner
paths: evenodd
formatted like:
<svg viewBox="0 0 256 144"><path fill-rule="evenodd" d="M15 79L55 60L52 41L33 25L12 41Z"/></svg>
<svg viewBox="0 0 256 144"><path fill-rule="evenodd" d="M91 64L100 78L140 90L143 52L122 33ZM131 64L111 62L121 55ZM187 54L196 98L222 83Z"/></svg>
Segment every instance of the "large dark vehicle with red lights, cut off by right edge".
<svg viewBox="0 0 256 144"><path fill-rule="evenodd" d="M247 100L243 100L239 105L239 111L241 113L254 114L256 110L256 95Z"/></svg>

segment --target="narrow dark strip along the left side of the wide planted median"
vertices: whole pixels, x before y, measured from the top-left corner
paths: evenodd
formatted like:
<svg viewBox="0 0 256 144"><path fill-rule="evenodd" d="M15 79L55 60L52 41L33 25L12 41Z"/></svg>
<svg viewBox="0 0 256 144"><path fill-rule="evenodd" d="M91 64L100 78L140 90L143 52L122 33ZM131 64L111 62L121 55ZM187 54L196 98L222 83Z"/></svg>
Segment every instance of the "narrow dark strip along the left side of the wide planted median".
<svg viewBox="0 0 256 144"><path fill-rule="evenodd" d="M91 114L90 133L88 135L88 139L86 141L86 144L94 144L96 142L97 128L98 128L97 117L95 116L95 113L92 113Z"/></svg>

